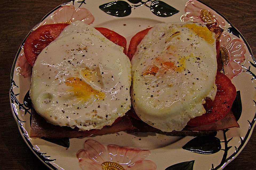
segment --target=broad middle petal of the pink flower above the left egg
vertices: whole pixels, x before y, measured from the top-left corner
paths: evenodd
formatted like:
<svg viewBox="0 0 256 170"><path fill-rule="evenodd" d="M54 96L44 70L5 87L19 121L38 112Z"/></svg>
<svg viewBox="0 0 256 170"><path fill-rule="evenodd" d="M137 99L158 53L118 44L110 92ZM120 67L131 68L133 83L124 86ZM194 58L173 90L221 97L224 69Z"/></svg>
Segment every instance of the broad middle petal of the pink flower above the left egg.
<svg viewBox="0 0 256 170"><path fill-rule="evenodd" d="M51 16L51 18L54 20L54 23L65 23L72 19L72 15L74 14L74 12L75 7L73 5L64 5L58 8L55 11L55 14Z"/></svg>

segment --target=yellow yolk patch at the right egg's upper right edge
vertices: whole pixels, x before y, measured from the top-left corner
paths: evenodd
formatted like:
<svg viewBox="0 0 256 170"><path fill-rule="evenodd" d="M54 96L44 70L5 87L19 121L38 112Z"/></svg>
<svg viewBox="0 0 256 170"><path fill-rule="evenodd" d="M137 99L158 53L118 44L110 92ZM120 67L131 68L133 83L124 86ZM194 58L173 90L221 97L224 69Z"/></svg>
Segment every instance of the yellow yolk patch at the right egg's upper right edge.
<svg viewBox="0 0 256 170"><path fill-rule="evenodd" d="M211 31L207 27L201 27L196 24L186 24L184 26L193 30L199 37L205 39L208 43L213 44L215 42Z"/></svg>

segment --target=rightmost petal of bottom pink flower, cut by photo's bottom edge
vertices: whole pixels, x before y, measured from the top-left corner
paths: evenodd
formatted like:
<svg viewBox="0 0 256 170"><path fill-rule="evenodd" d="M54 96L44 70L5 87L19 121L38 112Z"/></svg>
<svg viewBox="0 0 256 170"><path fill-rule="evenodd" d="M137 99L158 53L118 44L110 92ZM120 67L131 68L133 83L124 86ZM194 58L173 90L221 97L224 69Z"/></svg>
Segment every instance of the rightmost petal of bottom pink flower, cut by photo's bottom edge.
<svg viewBox="0 0 256 170"><path fill-rule="evenodd" d="M151 160L139 160L134 165L128 167L126 170L155 170L157 165Z"/></svg>

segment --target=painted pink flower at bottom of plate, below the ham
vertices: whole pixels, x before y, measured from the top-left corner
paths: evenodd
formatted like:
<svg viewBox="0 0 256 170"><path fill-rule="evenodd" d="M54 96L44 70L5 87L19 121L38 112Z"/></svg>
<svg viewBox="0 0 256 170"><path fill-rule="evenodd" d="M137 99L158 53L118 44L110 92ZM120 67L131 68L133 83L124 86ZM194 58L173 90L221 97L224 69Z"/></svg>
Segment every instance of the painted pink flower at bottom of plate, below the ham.
<svg viewBox="0 0 256 170"><path fill-rule="evenodd" d="M83 149L77 152L79 165L83 170L102 170L104 166L119 167L125 170L155 170L156 164L145 158L149 150L108 145L107 149L99 142L87 139Z"/></svg>

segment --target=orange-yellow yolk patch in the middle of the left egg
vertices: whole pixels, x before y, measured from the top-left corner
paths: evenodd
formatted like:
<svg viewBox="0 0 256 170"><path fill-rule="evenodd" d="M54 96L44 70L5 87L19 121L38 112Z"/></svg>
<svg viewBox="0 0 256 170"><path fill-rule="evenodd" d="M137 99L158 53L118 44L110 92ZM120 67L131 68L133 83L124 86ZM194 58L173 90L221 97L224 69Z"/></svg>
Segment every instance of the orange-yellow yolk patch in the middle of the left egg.
<svg viewBox="0 0 256 170"><path fill-rule="evenodd" d="M78 77L68 78L65 83L67 86L73 87L74 95L78 99L87 100L91 95L93 95L97 100L102 100L105 97L103 92L94 90L91 86Z"/></svg>

